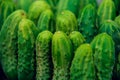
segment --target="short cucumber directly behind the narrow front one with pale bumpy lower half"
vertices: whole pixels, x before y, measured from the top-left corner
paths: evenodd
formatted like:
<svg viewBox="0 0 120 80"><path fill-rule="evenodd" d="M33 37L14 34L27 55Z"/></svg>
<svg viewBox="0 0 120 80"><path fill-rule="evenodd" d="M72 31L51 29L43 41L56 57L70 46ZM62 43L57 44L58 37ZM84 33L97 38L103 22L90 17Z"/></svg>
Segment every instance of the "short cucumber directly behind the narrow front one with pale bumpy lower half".
<svg viewBox="0 0 120 80"><path fill-rule="evenodd" d="M37 26L40 32L44 30L49 30L51 32L54 32L55 31L54 23L55 23L54 14L50 9L48 9L41 13Z"/></svg>

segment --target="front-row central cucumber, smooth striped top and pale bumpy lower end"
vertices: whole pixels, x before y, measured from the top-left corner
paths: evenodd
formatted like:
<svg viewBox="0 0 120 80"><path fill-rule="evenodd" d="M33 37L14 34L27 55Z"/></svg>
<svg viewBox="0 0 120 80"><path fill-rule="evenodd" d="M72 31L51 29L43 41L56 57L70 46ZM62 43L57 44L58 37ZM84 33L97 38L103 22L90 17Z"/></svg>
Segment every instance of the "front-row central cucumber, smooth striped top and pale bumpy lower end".
<svg viewBox="0 0 120 80"><path fill-rule="evenodd" d="M72 44L62 31L55 32L52 38L52 61L54 73L52 80L69 80L69 68L73 57Z"/></svg>

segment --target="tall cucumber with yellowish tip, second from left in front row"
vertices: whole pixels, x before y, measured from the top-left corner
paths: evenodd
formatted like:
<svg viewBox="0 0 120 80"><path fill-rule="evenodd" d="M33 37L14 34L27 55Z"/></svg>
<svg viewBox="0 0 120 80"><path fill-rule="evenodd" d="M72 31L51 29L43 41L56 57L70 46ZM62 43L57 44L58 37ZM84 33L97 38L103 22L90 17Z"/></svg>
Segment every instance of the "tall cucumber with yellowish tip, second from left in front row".
<svg viewBox="0 0 120 80"><path fill-rule="evenodd" d="M35 79L35 24L22 19L18 27L18 80Z"/></svg>

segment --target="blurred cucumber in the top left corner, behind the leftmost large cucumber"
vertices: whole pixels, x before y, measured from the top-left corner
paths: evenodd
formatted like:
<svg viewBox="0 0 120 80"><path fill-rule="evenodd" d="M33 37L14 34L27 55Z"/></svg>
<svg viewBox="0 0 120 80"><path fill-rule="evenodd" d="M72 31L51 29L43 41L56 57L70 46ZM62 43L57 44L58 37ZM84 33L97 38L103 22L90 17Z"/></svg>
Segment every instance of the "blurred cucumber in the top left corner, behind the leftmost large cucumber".
<svg viewBox="0 0 120 80"><path fill-rule="evenodd" d="M12 0L1 0L0 1L0 29L7 19L7 17L15 10L15 6Z"/></svg>

